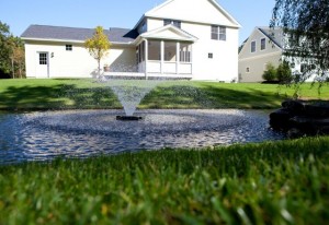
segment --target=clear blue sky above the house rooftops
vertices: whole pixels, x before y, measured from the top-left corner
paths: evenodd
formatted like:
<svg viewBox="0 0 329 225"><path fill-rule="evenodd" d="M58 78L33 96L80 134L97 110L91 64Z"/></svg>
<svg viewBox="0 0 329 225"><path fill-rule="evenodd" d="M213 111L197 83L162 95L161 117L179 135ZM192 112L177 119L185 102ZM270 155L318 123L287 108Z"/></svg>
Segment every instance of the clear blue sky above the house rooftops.
<svg viewBox="0 0 329 225"><path fill-rule="evenodd" d="M164 0L0 0L0 21L20 36L31 24L132 28ZM193 2L193 0L191 0ZM254 26L270 23L275 0L217 0L241 25L240 43Z"/></svg>

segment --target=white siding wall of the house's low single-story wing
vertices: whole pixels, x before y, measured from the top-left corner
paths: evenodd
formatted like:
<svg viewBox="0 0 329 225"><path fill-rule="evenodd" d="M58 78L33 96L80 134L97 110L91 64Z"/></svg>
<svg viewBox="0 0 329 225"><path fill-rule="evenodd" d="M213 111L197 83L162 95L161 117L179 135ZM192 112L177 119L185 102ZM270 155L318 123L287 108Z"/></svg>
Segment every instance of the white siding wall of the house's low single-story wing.
<svg viewBox="0 0 329 225"><path fill-rule="evenodd" d="M37 52L39 51L49 54L49 78L93 78L97 75L97 60L89 55L82 45L73 44L72 51L67 51L65 43L26 42L27 78L45 78L37 74ZM101 61L101 67L105 63L110 64L111 70L114 72L117 70L134 72L136 71L135 49L113 47L107 57Z"/></svg>

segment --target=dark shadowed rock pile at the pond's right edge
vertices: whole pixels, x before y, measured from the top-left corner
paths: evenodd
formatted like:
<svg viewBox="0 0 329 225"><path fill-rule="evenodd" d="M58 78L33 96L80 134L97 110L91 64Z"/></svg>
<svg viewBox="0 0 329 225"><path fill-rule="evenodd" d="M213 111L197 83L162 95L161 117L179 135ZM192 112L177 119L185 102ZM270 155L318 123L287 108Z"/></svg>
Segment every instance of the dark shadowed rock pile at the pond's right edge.
<svg viewBox="0 0 329 225"><path fill-rule="evenodd" d="M270 126L290 138L329 134L329 104L285 100L270 114Z"/></svg>

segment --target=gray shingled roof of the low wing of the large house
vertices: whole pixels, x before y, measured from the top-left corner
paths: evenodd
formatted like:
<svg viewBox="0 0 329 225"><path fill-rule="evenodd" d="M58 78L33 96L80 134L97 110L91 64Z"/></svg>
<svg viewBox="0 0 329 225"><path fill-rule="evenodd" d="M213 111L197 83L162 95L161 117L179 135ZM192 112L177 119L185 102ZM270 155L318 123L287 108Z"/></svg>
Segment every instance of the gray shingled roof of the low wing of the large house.
<svg viewBox="0 0 329 225"><path fill-rule="evenodd" d="M63 26L47 26L47 25L31 25L21 35L22 38L37 38L37 39L59 39L59 40L86 40L92 37L93 28L75 28ZM137 31L127 28L110 28L104 29L110 42L113 43L131 43L138 36Z"/></svg>

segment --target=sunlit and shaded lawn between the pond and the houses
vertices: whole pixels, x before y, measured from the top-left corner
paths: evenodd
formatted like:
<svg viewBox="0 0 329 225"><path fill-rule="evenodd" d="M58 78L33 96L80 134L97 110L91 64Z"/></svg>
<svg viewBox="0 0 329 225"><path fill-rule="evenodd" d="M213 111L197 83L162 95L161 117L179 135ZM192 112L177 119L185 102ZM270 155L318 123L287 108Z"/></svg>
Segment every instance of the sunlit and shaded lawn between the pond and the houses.
<svg viewBox="0 0 329 225"><path fill-rule="evenodd" d="M293 87L275 84L223 84L163 82L139 108L277 108L293 96ZM329 99L329 86L318 95L310 84L302 86L306 99ZM0 109L97 109L122 108L106 84L93 80L0 80Z"/></svg>

